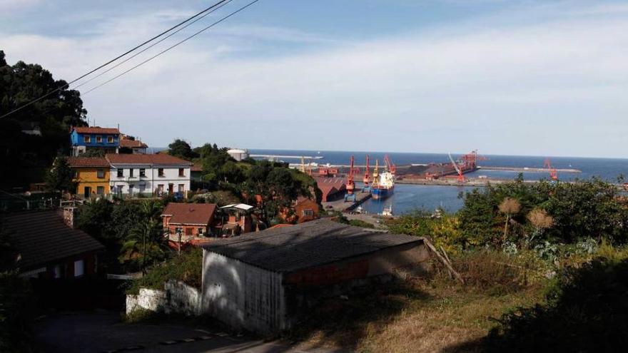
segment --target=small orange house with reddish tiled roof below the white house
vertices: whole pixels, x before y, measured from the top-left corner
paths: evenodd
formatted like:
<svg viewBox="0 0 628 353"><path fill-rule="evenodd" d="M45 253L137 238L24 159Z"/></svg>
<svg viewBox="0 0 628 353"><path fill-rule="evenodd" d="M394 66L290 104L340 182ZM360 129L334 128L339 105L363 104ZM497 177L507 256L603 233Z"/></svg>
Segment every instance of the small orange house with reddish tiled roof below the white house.
<svg viewBox="0 0 628 353"><path fill-rule="evenodd" d="M161 213L163 228L168 230L171 240L188 242L194 237L211 235L211 224L216 215L213 203L168 203Z"/></svg>

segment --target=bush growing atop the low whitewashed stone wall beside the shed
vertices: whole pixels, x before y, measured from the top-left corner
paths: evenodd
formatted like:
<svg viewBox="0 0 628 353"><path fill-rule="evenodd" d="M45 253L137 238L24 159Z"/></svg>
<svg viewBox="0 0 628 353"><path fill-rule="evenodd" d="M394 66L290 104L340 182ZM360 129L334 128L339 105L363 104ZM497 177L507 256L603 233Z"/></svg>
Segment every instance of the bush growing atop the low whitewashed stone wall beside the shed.
<svg viewBox="0 0 628 353"><path fill-rule="evenodd" d="M166 262L149 267L146 275L133 280L126 292L136 295L141 287L163 290L163 285L168 280L179 280L186 285L201 288L202 262L203 250L198 247L184 250L181 256L175 256Z"/></svg>

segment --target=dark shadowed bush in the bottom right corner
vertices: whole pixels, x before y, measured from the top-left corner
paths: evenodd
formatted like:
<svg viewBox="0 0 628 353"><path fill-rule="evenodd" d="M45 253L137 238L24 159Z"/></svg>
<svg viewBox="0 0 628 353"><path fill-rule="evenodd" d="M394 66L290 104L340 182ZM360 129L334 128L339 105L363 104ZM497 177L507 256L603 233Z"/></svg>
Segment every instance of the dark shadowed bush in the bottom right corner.
<svg viewBox="0 0 628 353"><path fill-rule="evenodd" d="M490 352L620 352L628 344L628 257L562 271L547 304L503 315Z"/></svg>

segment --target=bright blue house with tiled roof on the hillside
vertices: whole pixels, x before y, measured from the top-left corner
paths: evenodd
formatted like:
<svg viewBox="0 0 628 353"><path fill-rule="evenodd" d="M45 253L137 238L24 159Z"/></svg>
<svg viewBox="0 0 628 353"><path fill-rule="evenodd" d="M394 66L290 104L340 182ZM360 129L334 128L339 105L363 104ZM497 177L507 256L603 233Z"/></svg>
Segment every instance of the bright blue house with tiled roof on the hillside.
<svg viewBox="0 0 628 353"><path fill-rule="evenodd" d="M72 155L78 156L88 149L101 149L105 153L118 153L120 131L117 128L75 127L70 132Z"/></svg>

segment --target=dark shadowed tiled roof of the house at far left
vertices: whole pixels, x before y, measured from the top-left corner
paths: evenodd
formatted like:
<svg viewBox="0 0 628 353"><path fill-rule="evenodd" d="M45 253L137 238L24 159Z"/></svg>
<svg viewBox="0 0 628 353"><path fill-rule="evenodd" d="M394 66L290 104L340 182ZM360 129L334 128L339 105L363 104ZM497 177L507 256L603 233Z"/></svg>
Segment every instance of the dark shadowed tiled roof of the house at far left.
<svg viewBox="0 0 628 353"><path fill-rule="evenodd" d="M2 222L21 255L22 270L105 248L86 232L68 227L55 210L9 213Z"/></svg>

